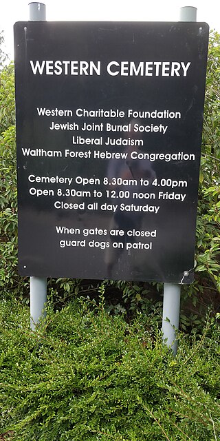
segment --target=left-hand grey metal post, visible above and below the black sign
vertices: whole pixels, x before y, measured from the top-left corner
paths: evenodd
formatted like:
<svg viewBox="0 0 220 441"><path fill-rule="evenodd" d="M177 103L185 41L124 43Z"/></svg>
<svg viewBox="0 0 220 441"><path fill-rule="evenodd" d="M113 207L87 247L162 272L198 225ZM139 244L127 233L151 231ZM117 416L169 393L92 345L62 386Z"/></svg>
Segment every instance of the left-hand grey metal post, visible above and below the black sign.
<svg viewBox="0 0 220 441"><path fill-rule="evenodd" d="M44 3L29 3L30 21L45 21L46 6ZM34 330L43 314L47 302L47 278L30 278L30 327Z"/></svg>

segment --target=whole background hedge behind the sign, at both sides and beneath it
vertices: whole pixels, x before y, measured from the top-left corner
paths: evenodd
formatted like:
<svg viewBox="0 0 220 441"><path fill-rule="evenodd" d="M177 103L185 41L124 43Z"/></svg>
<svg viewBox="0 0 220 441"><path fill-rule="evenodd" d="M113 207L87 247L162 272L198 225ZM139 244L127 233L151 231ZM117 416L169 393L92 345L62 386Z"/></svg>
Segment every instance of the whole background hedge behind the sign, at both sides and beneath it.
<svg viewBox="0 0 220 441"><path fill-rule="evenodd" d="M5 58L0 52L0 58ZM210 49L206 81L206 101L203 123L203 143L197 216L196 280L182 289L182 299L189 298L188 318L182 324L190 326L199 308L212 302L219 306L220 274L220 35L210 34ZM14 114L14 67L7 65L0 74L0 289L13 290L19 298L28 299L27 283L17 274L17 176ZM162 300L159 284L107 282L112 307L144 310L148 299ZM86 280L50 280L49 289L56 300L87 294L93 287ZM96 291L96 286L95 286ZM115 295L114 295L114 294ZM159 293L159 294L158 294ZM28 300L27 300L28 301ZM197 308L195 309L195 305ZM118 305L118 306L117 306ZM194 307L192 307L194 305ZM196 320L197 317L194 317Z"/></svg>

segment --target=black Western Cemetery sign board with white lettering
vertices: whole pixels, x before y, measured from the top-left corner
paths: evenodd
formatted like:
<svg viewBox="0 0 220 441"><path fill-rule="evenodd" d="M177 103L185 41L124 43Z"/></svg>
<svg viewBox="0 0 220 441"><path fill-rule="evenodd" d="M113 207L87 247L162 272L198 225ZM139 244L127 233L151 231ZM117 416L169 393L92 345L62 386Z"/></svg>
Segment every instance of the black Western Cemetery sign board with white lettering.
<svg viewBox="0 0 220 441"><path fill-rule="evenodd" d="M14 35L20 274L192 282L208 25Z"/></svg>

